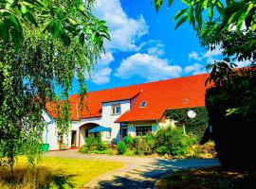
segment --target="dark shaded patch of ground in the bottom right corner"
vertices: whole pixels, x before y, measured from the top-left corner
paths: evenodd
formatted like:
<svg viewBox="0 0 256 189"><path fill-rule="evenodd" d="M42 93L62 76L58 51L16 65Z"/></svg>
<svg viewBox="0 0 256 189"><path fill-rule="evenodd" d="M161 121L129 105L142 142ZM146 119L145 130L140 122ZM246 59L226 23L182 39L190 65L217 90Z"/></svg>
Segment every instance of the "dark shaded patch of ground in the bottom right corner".
<svg viewBox="0 0 256 189"><path fill-rule="evenodd" d="M156 188L236 189L255 188L256 173L210 167L177 171L156 182Z"/></svg>

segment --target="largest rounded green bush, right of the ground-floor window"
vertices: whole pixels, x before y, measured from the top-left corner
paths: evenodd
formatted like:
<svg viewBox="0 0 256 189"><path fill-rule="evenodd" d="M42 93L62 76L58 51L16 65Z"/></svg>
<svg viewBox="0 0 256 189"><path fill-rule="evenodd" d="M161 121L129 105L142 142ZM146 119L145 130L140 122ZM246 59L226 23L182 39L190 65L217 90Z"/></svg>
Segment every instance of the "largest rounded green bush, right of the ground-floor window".
<svg viewBox="0 0 256 189"><path fill-rule="evenodd" d="M159 128L155 133L155 147L159 155L183 156L195 143L195 137L185 135L182 129L175 129L171 126Z"/></svg>

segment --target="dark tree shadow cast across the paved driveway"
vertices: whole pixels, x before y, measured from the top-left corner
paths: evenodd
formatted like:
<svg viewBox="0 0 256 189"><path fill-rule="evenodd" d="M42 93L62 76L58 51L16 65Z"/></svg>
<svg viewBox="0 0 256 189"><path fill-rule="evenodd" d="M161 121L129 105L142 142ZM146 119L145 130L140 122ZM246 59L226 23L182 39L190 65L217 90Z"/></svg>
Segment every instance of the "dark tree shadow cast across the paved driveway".
<svg viewBox="0 0 256 189"><path fill-rule="evenodd" d="M219 165L218 160L156 160L155 163L145 163L143 170L132 169L124 176L115 176L113 180L102 180L100 188L154 188L155 180L174 171Z"/></svg>

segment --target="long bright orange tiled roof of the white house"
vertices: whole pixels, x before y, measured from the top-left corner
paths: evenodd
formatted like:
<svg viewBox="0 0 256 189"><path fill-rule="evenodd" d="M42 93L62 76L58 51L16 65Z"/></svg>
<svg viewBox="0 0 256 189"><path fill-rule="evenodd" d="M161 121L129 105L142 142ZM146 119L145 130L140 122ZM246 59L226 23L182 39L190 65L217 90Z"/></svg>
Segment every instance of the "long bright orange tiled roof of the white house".
<svg viewBox="0 0 256 189"><path fill-rule="evenodd" d="M209 75L202 74L192 77L173 79L95 91L86 94L83 108L78 115L79 94L70 96L72 120L101 116L101 103L119 100L132 100L132 110L122 112L116 122L140 120L159 120L169 109L192 108L205 106L205 81ZM146 107L140 107L142 101ZM55 118L53 112L49 114Z"/></svg>

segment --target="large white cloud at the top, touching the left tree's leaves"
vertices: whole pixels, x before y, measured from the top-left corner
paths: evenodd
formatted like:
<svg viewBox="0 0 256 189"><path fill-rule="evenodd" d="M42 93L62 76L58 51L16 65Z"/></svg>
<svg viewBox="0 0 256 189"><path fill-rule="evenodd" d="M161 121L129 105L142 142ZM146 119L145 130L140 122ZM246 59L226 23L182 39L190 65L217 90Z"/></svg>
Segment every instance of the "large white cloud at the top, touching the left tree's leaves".
<svg viewBox="0 0 256 189"><path fill-rule="evenodd" d="M137 51L138 39L148 33L148 26L142 15L137 19L129 18L121 8L119 0L98 0L95 14L107 22L111 42L106 42L106 49Z"/></svg>

